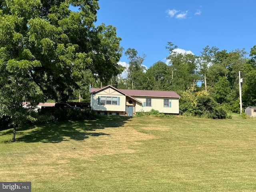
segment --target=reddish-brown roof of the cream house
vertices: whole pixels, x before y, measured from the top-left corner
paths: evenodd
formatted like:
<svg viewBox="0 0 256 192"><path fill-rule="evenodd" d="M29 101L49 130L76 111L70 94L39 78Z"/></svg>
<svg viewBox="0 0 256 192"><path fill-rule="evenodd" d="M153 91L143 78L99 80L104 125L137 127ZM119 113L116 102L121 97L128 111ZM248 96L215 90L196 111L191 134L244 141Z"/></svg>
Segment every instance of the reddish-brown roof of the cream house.
<svg viewBox="0 0 256 192"><path fill-rule="evenodd" d="M180 96L174 91L155 91L155 90L132 90L132 89L117 89L111 85L103 88L91 88L91 94L96 94L108 87L126 95L126 96L146 96L146 97L164 97L164 98L180 98Z"/></svg>

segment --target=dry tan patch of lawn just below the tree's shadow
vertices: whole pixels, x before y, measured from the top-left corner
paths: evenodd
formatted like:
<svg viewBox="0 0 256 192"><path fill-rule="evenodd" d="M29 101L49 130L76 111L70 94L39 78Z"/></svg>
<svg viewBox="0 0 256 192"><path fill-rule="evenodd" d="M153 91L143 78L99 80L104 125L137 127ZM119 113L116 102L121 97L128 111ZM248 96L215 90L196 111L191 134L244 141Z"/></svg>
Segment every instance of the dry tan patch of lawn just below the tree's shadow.
<svg viewBox="0 0 256 192"><path fill-rule="evenodd" d="M66 164L70 158L94 160L95 157L102 155L134 153L139 150L140 141L154 138L156 136L141 133L130 127L106 128L104 135L89 137L82 141L43 143L37 154L27 155L23 161L31 164Z"/></svg>

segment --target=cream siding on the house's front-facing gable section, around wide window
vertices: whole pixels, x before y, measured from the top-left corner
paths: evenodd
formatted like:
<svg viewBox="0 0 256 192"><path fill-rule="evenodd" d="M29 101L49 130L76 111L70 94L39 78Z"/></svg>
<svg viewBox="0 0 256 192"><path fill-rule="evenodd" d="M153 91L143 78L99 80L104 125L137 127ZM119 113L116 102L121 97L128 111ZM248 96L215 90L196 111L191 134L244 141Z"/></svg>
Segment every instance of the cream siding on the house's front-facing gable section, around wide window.
<svg viewBox="0 0 256 192"><path fill-rule="evenodd" d="M98 96L120 97L120 105L98 105ZM91 106L92 110L95 111L125 111L125 104L126 96L120 94L112 88L108 88L98 92L97 94L91 95Z"/></svg>

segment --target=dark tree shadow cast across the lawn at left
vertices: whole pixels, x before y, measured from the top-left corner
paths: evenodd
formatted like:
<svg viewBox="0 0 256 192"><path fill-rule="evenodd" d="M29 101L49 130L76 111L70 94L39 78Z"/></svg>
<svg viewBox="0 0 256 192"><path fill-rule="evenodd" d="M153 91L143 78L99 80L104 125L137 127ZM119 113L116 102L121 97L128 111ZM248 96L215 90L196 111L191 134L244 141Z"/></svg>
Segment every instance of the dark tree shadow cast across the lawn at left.
<svg viewBox="0 0 256 192"><path fill-rule="evenodd" d="M68 140L84 140L89 136L109 135L97 130L108 127L118 128L123 126L129 117L122 116L100 116L96 120L56 122L32 127L31 131L17 129L17 142L45 142L59 143ZM94 132L95 131L95 132Z"/></svg>

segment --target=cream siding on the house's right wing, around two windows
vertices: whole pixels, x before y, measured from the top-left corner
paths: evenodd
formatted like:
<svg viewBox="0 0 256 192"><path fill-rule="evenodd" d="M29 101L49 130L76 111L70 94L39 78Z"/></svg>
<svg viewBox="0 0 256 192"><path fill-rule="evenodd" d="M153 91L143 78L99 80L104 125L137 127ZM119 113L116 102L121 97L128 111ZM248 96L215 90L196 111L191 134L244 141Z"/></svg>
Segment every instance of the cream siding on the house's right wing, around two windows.
<svg viewBox="0 0 256 192"><path fill-rule="evenodd" d="M178 98L160 98L160 97L146 97L151 98L151 107L143 106L143 103L146 102L144 97L136 97L137 100L141 101L142 104L136 103L136 112L148 112L151 109L158 110L160 113L171 113L179 114L179 99ZM171 107L164 107L164 99L169 99L172 102Z"/></svg>

